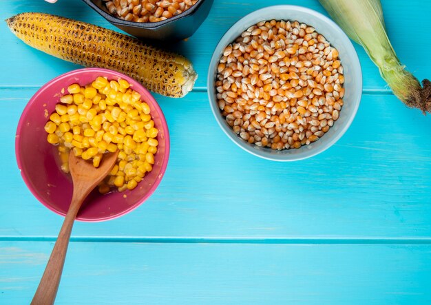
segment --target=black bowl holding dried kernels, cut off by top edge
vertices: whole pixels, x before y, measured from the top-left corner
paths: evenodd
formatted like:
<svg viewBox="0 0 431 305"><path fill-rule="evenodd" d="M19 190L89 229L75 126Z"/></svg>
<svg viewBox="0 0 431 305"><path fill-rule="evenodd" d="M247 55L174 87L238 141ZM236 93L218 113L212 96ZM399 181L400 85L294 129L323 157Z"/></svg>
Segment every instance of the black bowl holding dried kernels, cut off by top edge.
<svg viewBox="0 0 431 305"><path fill-rule="evenodd" d="M213 0L198 0L189 10L175 17L159 21L139 23L125 21L109 14L102 0L83 0L107 21L138 38L156 39L160 41L178 41L193 35L200 24L207 18Z"/></svg>

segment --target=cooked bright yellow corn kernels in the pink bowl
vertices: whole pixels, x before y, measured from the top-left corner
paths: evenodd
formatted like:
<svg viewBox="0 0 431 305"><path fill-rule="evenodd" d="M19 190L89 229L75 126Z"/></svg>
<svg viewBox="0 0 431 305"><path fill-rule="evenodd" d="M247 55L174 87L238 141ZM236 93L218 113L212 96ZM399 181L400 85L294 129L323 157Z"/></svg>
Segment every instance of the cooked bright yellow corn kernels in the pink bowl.
<svg viewBox="0 0 431 305"><path fill-rule="evenodd" d="M73 84L67 91L45 124L48 143L58 145L61 169L69 172L70 150L98 167L105 152L118 149L116 165L98 191L134 189L152 170L157 152L158 129L149 105L123 79L99 76L90 85Z"/></svg>

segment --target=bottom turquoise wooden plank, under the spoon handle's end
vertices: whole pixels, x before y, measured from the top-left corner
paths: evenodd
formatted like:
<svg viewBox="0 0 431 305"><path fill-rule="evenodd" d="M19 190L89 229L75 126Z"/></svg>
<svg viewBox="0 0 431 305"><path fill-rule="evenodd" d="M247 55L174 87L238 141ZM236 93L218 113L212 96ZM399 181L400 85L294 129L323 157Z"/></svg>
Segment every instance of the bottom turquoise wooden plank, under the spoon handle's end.
<svg viewBox="0 0 431 305"><path fill-rule="evenodd" d="M0 242L0 303L28 304L51 242ZM72 242L56 304L429 304L431 246Z"/></svg>

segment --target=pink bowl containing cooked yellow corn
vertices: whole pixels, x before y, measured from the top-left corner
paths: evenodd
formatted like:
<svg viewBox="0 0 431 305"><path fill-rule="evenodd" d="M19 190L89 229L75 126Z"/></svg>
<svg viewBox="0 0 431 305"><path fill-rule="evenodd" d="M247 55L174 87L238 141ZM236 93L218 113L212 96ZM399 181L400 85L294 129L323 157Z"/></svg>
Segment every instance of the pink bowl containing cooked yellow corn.
<svg viewBox="0 0 431 305"><path fill-rule="evenodd" d="M136 189L106 195L94 190L90 194L76 218L88 222L110 220L129 213L147 200L162 180L169 159L169 131L162 109L148 90L129 76L111 70L86 68L68 72L46 83L34 94L21 115L15 138L15 154L25 184L45 207L64 216L72 199L72 179L61 171L56 162L57 148L47 142L43 127L59 103L62 90L67 93L67 87L72 83L87 85L97 76L106 76L109 80L123 78L140 93L151 108L154 125L159 129L158 151L153 170Z"/></svg>

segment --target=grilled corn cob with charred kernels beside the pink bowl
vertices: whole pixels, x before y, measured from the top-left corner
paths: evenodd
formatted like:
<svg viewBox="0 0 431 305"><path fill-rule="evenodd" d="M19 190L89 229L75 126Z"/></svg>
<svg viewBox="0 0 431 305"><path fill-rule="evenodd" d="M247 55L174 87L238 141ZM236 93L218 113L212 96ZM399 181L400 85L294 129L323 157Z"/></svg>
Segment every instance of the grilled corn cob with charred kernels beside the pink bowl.
<svg viewBox="0 0 431 305"><path fill-rule="evenodd" d="M78 65L122 72L165 96L185 96L198 77L185 57L97 25L36 12L17 14L6 23L33 48Z"/></svg>

